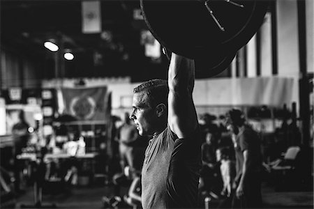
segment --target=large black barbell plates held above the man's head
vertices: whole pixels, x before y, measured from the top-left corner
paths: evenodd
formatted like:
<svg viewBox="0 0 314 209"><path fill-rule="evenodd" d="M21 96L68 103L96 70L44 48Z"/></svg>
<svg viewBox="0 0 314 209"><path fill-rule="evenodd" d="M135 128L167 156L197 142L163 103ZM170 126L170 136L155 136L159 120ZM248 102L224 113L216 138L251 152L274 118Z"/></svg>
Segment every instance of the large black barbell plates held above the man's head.
<svg viewBox="0 0 314 209"><path fill-rule="evenodd" d="M223 72L262 25L265 0L140 0L149 31L168 52L195 59L196 74Z"/></svg>

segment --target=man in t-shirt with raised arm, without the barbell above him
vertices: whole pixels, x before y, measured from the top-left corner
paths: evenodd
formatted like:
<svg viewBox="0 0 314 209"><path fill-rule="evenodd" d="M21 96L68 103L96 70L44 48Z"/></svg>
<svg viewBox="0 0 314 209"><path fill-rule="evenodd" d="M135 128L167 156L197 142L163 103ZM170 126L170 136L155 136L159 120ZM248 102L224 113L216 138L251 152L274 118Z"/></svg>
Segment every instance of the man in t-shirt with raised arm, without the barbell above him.
<svg viewBox="0 0 314 209"><path fill-rule="evenodd" d="M142 207L197 208L201 139L192 99L194 61L172 53L168 81L134 88L130 118L151 136L142 167Z"/></svg>

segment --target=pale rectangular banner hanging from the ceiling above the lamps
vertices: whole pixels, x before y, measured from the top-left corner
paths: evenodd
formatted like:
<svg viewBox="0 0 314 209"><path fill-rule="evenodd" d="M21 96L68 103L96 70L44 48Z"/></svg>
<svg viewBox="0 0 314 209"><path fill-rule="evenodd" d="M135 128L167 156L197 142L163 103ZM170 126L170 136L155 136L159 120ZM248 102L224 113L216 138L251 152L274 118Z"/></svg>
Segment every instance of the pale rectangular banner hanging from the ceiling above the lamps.
<svg viewBox="0 0 314 209"><path fill-rule="evenodd" d="M100 1L82 1L82 33L101 32Z"/></svg>

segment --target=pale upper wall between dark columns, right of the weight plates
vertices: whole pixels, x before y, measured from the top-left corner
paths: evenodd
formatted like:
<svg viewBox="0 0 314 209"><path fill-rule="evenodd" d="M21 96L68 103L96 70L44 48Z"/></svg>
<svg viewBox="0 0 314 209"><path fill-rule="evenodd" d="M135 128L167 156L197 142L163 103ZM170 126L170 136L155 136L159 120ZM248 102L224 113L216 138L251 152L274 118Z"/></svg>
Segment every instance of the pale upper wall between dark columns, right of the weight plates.
<svg viewBox="0 0 314 209"><path fill-rule="evenodd" d="M267 13L258 34L248 42L247 50L247 77L291 77L293 79L292 101L297 102L299 113L299 26L297 0L276 0L276 13ZM306 0L306 56L307 72L314 72L314 1ZM271 17L274 15L273 17ZM276 21L276 22L274 22ZM276 26L276 31L272 27ZM258 36L257 36L258 35ZM276 38L272 45L271 38ZM257 42L260 45L257 45ZM260 55L257 50L260 47ZM276 47L277 54L272 54ZM276 63L273 63L273 57ZM257 58L257 59L256 59ZM273 69L273 67L277 69ZM257 74L257 68L260 75ZM276 75L274 75L274 70ZM234 77L234 72L232 73ZM291 104L288 104L289 107Z"/></svg>

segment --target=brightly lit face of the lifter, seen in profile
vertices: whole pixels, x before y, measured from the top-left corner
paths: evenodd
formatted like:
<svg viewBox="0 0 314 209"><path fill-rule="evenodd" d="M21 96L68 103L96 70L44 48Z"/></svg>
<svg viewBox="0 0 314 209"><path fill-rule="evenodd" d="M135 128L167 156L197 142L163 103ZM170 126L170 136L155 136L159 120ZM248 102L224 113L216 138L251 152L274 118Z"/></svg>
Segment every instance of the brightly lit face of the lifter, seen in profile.
<svg viewBox="0 0 314 209"><path fill-rule="evenodd" d="M141 136L149 136L155 133L156 129L156 111L149 107L146 93L134 93L133 111L130 115Z"/></svg>

